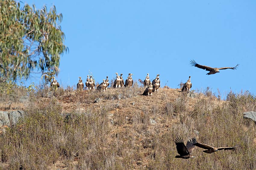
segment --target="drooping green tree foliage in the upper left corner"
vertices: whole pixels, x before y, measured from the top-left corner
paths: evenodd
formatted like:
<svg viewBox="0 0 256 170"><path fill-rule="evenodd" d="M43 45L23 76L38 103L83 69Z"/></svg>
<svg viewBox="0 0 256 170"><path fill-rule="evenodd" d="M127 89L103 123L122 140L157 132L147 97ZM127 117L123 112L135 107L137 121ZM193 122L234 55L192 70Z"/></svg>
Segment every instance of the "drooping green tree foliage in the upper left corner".
<svg viewBox="0 0 256 170"><path fill-rule="evenodd" d="M0 0L0 74L4 79L27 79L31 71L55 70L60 55L67 52L59 25L62 14L53 6L20 6L14 0Z"/></svg>

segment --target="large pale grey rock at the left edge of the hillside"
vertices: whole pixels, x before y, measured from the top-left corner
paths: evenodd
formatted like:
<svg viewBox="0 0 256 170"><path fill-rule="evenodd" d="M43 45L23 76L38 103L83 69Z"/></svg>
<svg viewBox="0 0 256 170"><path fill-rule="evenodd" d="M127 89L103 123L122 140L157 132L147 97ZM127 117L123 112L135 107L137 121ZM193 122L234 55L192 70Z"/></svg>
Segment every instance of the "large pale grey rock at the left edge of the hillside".
<svg viewBox="0 0 256 170"><path fill-rule="evenodd" d="M20 118L24 118L25 112L22 110L15 111L0 111L0 127L13 126L17 124Z"/></svg>

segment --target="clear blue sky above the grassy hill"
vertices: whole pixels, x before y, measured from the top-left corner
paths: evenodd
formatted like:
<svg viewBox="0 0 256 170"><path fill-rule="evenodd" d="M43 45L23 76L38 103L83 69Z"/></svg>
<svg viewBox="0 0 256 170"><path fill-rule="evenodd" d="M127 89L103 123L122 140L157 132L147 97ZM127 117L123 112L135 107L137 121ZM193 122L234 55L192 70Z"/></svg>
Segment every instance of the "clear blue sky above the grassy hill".
<svg viewBox="0 0 256 170"><path fill-rule="evenodd" d="M207 86L222 96L230 91L256 94L256 1L64 1L26 0L41 9L54 4L63 14L69 53L56 78L64 87L96 82L115 72L133 79L160 74L161 86L177 88L191 76L192 89ZM206 75L189 61L210 67L234 67ZM40 75L26 81L39 83Z"/></svg>

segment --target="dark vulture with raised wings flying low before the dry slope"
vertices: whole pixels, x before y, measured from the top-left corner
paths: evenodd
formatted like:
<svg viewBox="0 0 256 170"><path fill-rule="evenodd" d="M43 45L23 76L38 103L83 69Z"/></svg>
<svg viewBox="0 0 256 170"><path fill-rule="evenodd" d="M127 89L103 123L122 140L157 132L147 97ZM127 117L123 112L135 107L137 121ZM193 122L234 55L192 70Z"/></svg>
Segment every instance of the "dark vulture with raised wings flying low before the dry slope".
<svg viewBox="0 0 256 170"><path fill-rule="evenodd" d="M181 137L180 138L176 137L174 142L176 144L177 152L178 154L180 154L180 155L176 155L175 158L183 158L183 159L194 158L194 156L192 156L192 152L195 149L195 144L196 144L195 138L192 138L192 140L189 139L187 141L186 146Z"/></svg>

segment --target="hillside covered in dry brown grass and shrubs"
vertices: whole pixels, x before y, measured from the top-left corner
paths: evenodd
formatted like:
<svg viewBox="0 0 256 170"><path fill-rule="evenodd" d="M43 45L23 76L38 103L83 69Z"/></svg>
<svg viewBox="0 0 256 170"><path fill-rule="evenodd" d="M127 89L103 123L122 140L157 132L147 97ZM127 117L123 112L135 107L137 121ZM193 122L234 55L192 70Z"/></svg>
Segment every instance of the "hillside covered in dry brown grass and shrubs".
<svg viewBox="0 0 256 170"><path fill-rule="evenodd" d="M143 91L135 85L48 94L41 86L27 106L2 94L1 102L12 104L1 110L18 107L28 115L0 134L0 169L256 169L256 125L242 115L256 111L255 96L230 92L223 101L209 89L194 99L180 89L161 88L153 97ZM176 136L237 150L196 148L195 158L176 159Z"/></svg>

